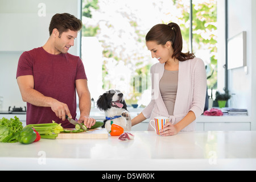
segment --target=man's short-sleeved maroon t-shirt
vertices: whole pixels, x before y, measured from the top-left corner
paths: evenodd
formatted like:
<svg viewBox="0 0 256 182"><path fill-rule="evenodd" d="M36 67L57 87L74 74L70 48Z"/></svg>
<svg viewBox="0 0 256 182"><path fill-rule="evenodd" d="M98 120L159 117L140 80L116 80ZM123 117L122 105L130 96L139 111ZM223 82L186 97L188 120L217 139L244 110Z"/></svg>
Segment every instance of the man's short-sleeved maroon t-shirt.
<svg viewBox="0 0 256 182"><path fill-rule="evenodd" d="M44 96L55 98L68 105L73 119L76 118L76 84L78 79L87 79L80 57L69 53L52 55L43 47L23 52L19 58L16 78L34 76L34 89ZM51 107L39 107L27 102L27 125L32 123L61 123L74 127L66 119L62 121Z"/></svg>

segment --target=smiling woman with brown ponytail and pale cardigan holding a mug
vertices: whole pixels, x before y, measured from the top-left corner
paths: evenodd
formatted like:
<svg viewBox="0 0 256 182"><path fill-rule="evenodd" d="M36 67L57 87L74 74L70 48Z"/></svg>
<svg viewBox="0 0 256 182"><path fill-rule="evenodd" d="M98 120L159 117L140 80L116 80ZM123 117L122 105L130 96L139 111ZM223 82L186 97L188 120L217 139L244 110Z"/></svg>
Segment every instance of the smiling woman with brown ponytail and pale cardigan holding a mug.
<svg viewBox="0 0 256 182"><path fill-rule="evenodd" d="M152 98L132 126L147 118L168 117L160 134L176 135L195 131L195 119L204 111L207 75L204 62L192 53L183 53L180 27L176 23L156 24L146 35L146 46L152 58ZM148 125L148 130L154 130Z"/></svg>

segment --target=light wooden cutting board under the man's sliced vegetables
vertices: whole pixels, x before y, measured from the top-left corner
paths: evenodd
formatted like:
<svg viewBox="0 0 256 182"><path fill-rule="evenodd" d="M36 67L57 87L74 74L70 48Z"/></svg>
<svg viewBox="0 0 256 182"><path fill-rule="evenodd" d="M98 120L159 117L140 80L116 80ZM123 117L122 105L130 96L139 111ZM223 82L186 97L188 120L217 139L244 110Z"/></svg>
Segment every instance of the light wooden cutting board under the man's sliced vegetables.
<svg viewBox="0 0 256 182"><path fill-rule="evenodd" d="M75 130L75 129L64 129ZM56 139L108 139L109 134L106 129L89 129L89 132L80 133L59 133Z"/></svg>

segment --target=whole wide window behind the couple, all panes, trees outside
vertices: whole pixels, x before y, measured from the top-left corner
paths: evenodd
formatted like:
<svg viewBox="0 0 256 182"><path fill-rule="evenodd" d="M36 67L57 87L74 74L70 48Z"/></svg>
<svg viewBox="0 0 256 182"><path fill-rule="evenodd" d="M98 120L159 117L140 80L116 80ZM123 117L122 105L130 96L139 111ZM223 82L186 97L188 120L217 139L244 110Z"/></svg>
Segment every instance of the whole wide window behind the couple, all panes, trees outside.
<svg viewBox="0 0 256 182"><path fill-rule="evenodd" d="M94 100L115 88L127 104L150 102L156 60L144 37L158 23L179 24L183 52L205 61L208 88L217 88L217 0L82 0L82 22L81 57Z"/></svg>

